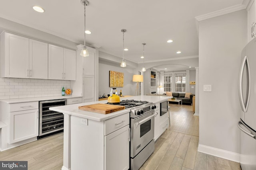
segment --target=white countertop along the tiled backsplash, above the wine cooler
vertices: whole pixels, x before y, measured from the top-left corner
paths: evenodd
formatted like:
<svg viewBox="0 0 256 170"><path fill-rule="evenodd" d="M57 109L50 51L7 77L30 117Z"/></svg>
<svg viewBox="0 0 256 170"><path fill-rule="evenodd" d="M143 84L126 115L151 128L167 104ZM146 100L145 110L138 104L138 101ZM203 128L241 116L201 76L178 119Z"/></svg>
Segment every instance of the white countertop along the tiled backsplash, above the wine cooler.
<svg viewBox="0 0 256 170"><path fill-rule="evenodd" d="M0 100L0 102L12 104L12 103L36 102L36 101L68 99L68 98L82 98L82 96L68 95L68 96L46 96L46 97L38 97L38 98L2 99Z"/></svg>

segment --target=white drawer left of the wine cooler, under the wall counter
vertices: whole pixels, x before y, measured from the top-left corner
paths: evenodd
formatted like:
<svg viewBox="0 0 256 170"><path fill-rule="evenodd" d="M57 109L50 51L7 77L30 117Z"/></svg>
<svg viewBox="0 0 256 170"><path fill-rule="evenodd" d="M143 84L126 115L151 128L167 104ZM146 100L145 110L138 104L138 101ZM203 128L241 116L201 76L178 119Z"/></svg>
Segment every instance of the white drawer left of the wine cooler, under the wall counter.
<svg viewBox="0 0 256 170"><path fill-rule="evenodd" d="M38 105L38 102L14 103L10 104L10 112L38 109Z"/></svg>

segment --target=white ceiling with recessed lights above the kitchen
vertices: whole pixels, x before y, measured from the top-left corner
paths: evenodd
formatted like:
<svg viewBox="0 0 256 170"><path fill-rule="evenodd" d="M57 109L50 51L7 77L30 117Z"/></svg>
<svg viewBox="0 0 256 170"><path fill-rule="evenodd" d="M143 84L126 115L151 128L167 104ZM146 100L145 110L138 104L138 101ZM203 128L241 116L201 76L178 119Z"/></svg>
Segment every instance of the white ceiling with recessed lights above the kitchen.
<svg viewBox="0 0 256 170"><path fill-rule="evenodd" d="M88 0L86 43L100 51L145 63L198 56L196 16L242 4L243 0ZM35 12L41 6L44 13ZM76 43L84 41L84 6L80 0L2 0L0 17ZM172 43L167 43L172 39ZM180 54L176 54L181 51ZM120 60L121 61L121 60Z"/></svg>

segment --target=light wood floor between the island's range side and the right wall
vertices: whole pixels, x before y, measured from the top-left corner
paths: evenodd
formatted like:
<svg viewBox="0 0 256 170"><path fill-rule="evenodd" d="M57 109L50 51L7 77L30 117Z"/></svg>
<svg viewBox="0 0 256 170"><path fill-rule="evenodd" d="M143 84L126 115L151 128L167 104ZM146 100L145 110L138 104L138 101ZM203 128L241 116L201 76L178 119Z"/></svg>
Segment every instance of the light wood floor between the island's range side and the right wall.
<svg viewBox="0 0 256 170"><path fill-rule="evenodd" d="M237 162L197 152L199 117L193 115L192 106L169 106L171 126L140 170L241 170Z"/></svg>

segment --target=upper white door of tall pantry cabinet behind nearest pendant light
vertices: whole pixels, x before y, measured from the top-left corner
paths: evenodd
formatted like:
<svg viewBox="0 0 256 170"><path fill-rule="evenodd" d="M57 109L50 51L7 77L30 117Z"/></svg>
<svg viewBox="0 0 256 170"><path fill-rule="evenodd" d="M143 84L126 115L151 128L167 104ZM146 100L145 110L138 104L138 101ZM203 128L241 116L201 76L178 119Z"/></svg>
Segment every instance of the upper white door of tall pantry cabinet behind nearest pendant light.
<svg viewBox="0 0 256 170"><path fill-rule="evenodd" d="M89 51L89 57L83 57L83 74L94 76L95 72L95 51Z"/></svg>

